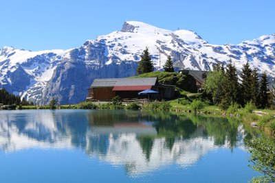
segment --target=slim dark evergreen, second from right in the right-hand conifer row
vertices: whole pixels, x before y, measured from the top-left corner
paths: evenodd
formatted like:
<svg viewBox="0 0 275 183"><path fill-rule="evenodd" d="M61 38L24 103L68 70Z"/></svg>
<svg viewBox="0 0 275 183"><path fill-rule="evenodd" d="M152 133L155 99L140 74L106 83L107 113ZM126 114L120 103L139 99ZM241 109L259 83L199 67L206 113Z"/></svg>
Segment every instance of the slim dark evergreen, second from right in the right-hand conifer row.
<svg viewBox="0 0 275 183"><path fill-rule="evenodd" d="M251 75L251 100L256 107L259 107L259 74L257 69L253 69Z"/></svg>

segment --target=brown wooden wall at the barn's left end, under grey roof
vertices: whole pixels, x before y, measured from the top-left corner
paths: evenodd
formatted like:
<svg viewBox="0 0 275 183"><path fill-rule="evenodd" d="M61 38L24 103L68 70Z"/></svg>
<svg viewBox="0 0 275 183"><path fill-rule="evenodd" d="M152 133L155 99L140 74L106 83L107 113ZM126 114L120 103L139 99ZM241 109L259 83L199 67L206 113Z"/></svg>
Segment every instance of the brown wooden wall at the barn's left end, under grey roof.
<svg viewBox="0 0 275 183"><path fill-rule="evenodd" d="M113 91L113 87L90 88L89 97L95 100L110 100L115 97L115 91Z"/></svg>

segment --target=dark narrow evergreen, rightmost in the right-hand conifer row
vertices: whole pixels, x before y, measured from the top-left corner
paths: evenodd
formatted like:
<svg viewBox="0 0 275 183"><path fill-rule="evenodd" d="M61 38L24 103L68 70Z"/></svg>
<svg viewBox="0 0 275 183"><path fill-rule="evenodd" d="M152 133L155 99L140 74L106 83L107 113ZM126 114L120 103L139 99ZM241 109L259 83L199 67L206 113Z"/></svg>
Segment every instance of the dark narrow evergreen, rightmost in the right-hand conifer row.
<svg viewBox="0 0 275 183"><path fill-rule="evenodd" d="M268 105L268 94L267 94L267 73L263 73L261 77L261 84L260 84L260 90L259 90L259 107L260 108L266 108Z"/></svg>

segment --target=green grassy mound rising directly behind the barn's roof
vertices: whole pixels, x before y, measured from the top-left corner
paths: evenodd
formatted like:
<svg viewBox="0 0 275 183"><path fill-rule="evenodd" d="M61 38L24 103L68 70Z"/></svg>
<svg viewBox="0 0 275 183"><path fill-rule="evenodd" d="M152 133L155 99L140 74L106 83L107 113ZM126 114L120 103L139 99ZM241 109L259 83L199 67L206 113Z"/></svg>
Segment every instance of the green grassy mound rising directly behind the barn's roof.
<svg viewBox="0 0 275 183"><path fill-rule="evenodd" d="M155 71L151 73L144 73L142 75L133 76L131 78L139 77L158 77L159 83L175 85L177 88L189 92L197 92L196 81L190 75L183 75L181 73L168 73L164 71Z"/></svg>

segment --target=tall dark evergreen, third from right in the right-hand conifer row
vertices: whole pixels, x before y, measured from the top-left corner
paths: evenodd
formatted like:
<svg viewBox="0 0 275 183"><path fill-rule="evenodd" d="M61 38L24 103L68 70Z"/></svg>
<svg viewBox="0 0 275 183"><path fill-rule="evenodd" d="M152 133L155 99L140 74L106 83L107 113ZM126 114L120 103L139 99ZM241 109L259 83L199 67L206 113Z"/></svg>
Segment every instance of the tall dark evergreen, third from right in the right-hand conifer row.
<svg viewBox="0 0 275 183"><path fill-rule="evenodd" d="M250 64L248 62L243 65L241 80L241 90L243 94L241 96L241 104L245 105L252 99L252 70L250 69Z"/></svg>

